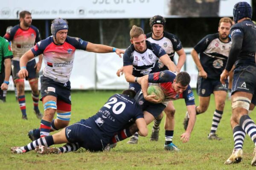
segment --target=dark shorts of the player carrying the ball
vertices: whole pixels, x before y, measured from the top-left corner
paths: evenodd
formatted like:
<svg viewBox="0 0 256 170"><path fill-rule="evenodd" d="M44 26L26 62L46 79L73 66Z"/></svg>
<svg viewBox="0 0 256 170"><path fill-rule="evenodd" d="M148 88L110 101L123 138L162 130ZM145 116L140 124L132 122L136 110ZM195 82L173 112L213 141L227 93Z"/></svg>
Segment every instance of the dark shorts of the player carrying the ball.
<svg viewBox="0 0 256 170"><path fill-rule="evenodd" d="M147 111L154 117L159 116L166 108L166 105L163 105L162 103L151 103L146 101L141 90L136 94L134 99L140 105L143 111Z"/></svg>

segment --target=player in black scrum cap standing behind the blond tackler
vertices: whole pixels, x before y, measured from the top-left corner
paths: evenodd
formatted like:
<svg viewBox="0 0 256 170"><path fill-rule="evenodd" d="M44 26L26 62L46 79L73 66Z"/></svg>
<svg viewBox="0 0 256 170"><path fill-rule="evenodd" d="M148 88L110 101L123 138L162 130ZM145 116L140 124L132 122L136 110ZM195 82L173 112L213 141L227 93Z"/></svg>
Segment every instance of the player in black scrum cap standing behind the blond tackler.
<svg viewBox="0 0 256 170"><path fill-rule="evenodd" d="M177 62L177 71L179 72L186 60L186 53L182 47L179 38L174 34L165 31L166 20L160 15L155 15L154 17L151 17L151 19L149 20L149 25L151 27L151 32L146 34L146 40L148 40L151 43L156 43L160 45L166 51L166 54L169 55L170 59L173 62L174 54L176 52L179 56ZM168 68L165 65L163 65L163 63L160 60L158 62L158 67L160 68L160 71L168 70ZM175 147L175 150L179 150L177 149L177 146L175 146L175 144L172 143L175 126L175 108L172 101L168 103L168 106L165 108L164 112L166 113L166 119L164 123L166 144ZM162 119L163 114L160 114L154 119L154 125L152 127L150 141L158 140L160 123ZM135 133L127 143L136 144L137 142L138 134Z"/></svg>

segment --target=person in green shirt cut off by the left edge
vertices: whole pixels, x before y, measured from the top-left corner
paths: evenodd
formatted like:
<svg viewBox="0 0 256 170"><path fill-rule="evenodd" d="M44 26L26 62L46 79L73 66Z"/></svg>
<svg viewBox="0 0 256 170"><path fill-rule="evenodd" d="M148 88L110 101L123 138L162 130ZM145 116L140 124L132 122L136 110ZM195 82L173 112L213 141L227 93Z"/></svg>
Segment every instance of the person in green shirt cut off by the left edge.
<svg viewBox="0 0 256 170"><path fill-rule="evenodd" d="M9 42L0 37L0 101L3 100L3 91L8 89L11 75L12 50Z"/></svg>

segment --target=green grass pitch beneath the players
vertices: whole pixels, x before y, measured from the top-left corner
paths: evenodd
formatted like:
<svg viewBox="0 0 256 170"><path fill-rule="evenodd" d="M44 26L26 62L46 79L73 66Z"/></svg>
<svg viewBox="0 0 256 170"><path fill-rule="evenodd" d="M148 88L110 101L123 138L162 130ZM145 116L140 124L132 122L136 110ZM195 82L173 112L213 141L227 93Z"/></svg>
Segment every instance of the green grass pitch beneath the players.
<svg viewBox="0 0 256 170"><path fill-rule="evenodd" d="M72 118L70 123L86 119L95 114L107 101L108 97L120 91L74 91L72 93ZM198 98L195 96L196 104ZM218 127L217 134L223 138L221 141L210 141L207 134L210 131L212 116L215 110L213 96L206 113L197 116L195 128L188 143L180 141L183 130L183 118L186 106L183 99L174 102L175 132L173 142L181 152L163 150L164 121L160 125L160 138L158 142L149 142L152 124L148 125L147 137L140 137L136 145L126 144L128 139L119 142L109 152L90 153L80 149L74 153L61 155L38 155L34 151L22 155L13 155L10 147L23 146L30 142L27 131L38 127L40 120L33 113L31 94L26 93L26 111L28 120L21 119L18 103L13 93L8 92L7 102L0 103L0 169L3 170L224 170L224 169L253 169L250 161L253 158L254 144L249 138L244 141L244 159L239 164L224 165L224 161L233 150L233 133L230 128L231 106L226 101L224 115ZM43 111L42 103L39 103ZM256 119L255 111L251 118ZM55 145L60 146L60 145Z"/></svg>

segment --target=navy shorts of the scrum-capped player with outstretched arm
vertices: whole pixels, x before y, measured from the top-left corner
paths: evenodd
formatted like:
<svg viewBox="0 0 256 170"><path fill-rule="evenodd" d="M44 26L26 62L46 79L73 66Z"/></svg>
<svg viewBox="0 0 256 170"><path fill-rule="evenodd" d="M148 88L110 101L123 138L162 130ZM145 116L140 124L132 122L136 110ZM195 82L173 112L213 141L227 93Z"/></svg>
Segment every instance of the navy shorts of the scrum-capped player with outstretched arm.
<svg viewBox="0 0 256 170"><path fill-rule="evenodd" d="M55 96L58 100L71 105L70 81L66 83L55 82L52 79L41 77L41 101L45 96Z"/></svg>

